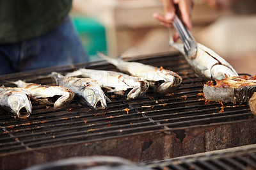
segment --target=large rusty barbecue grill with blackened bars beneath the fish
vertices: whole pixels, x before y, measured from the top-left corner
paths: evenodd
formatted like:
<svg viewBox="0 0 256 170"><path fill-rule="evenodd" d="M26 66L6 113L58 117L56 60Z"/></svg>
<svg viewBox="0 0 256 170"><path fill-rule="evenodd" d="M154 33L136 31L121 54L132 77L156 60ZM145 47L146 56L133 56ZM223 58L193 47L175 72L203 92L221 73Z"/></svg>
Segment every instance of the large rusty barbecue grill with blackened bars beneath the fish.
<svg viewBox="0 0 256 170"><path fill-rule="evenodd" d="M169 95L148 91L136 100L113 98L106 110L95 111L72 102L67 109L54 111L52 107L45 109L44 105L33 103L33 112L26 120L14 119L1 110L2 165L11 166L10 159L22 159L20 155L26 154L31 159L39 155L43 158L42 162L77 155L114 155L136 162L148 162L256 143L253 137L256 135L256 119L248 105L227 103L224 112L220 112L221 105L218 103L205 105L203 97L198 96L198 93L202 93L205 81L196 77L183 56L178 53L156 54L142 56L136 61L163 66L179 73L184 79L182 86ZM0 79L54 84L50 78L40 77L52 71L65 73L82 67L118 71L115 66L103 61L15 73L1 76ZM125 111L126 108L129 112ZM216 139L214 134L223 130L229 133L228 137L218 135L222 138ZM201 135L209 135L209 139L202 139ZM244 135L245 138L236 139L230 144L221 143L222 139L232 140L234 135ZM195 141L189 141L193 137ZM132 141L135 146L132 146ZM198 148L193 150L190 146L195 143L198 143ZM208 144L200 146L202 143ZM211 146L212 143L220 144ZM164 144L169 150L160 146L155 155L145 157L156 150L157 144ZM134 150L130 151L132 148ZM46 158L52 150L60 153ZM63 153L68 151L69 155ZM122 154L125 151L127 153ZM36 164L36 160L23 161L20 167L28 166L29 162Z"/></svg>

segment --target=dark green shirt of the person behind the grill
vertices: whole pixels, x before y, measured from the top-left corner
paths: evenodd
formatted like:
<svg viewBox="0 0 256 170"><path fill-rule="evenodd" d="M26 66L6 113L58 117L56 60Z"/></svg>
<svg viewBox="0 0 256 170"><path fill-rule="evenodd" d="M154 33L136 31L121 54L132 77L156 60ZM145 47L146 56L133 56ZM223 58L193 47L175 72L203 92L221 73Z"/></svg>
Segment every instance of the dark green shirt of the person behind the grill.
<svg viewBox="0 0 256 170"><path fill-rule="evenodd" d="M44 35L60 26L72 0L0 0L0 43Z"/></svg>

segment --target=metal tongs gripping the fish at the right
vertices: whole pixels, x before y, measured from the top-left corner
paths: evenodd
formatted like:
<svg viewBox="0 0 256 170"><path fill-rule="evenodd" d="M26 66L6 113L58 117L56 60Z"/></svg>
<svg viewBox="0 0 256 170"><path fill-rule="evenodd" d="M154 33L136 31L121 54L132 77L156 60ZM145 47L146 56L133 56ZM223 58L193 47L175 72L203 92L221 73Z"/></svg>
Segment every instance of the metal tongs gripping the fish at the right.
<svg viewBox="0 0 256 170"><path fill-rule="evenodd" d="M184 23L179 19L179 16L176 14L173 20L173 26L180 36L184 44L184 50L186 55L189 58L195 58L197 52L197 45L195 38L191 35L189 29L184 25Z"/></svg>

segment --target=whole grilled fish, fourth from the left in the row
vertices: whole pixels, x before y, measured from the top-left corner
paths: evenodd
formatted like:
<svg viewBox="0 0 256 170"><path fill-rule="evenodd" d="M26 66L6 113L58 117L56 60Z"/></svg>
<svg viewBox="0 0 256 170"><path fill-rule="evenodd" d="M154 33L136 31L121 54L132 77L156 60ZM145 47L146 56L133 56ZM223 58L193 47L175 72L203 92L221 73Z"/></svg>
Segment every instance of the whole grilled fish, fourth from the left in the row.
<svg viewBox="0 0 256 170"><path fill-rule="evenodd" d="M127 94L127 99L139 97L147 91L149 86L147 81L140 81L138 77L106 70L80 68L74 72L67 73L65 77L74 77L79 75L96 80L99 82L100 87L106 89L108 93L124 95L125 91L131 89Z"/></svg>

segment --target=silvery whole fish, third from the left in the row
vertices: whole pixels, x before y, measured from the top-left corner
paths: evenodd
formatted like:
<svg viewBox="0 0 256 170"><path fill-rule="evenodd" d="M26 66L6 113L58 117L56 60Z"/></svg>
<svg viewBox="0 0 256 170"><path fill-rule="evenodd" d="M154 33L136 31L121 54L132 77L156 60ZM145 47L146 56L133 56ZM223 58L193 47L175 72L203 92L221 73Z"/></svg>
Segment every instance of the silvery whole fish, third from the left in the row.
<svg viewBox="0 0 256 170"><path fill-rule="evenodd" d="M97 81L90 78L64 77L57 72L52 72L51 76L58 86L74 91L75 95L81 98L83 104L88 104L96 109L98 102L100 102L101 107L97 107L97 109L107 107L106 96Z"/></svg>

